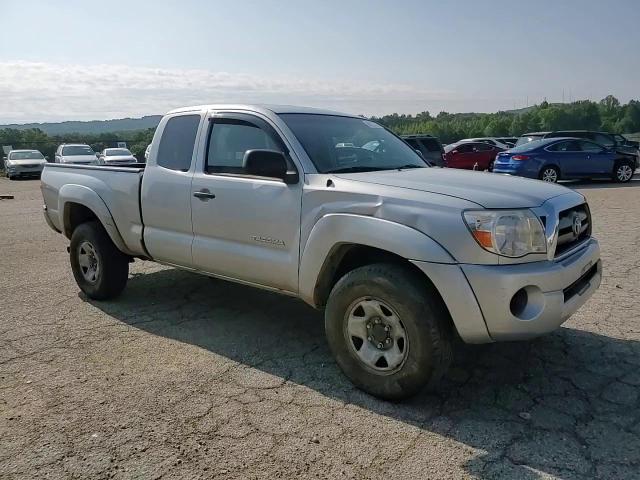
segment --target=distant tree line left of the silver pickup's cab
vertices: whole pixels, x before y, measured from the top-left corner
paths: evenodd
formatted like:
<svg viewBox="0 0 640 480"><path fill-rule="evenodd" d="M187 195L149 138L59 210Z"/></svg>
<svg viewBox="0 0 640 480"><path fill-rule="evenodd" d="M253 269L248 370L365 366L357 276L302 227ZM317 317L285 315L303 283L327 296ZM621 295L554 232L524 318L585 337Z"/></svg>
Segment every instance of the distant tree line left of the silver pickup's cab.
<svg viewBox="0 0 640 480"><path fill-rule="evenodd" d="M154 128L133 130L127 132L110 132L98 134L69 133L64 135L47 135L39 128L17 130L13 128L0 129L0 146L11 145L15 149L34 148L53 161L58 145L61 143L86 143L96 152L104 148L116 147L118 142L126 142L138 160L144 157L144 150L153 139Z"/></svg>

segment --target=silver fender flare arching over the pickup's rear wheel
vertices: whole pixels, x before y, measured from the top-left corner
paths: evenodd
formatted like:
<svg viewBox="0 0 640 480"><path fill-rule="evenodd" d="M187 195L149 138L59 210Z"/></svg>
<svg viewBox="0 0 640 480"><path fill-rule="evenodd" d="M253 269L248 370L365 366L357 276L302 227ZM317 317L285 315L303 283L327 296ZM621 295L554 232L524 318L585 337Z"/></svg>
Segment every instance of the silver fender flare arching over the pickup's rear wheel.
<svg viewBox="0 0 640 480"><path fill-rule="evenodd" d="M113 216L111 215L111 211L109 210L109 207L107 207L107 204L104 203L104 200L94 190L83 185L67 184L58 192L58 212L60 212L59 215L61 220L60 225L62 226L63 233L67 238L71 238L71 234L73 233L70 227L69 215L71 203L77 203L91 210L98 218L98 221L102 224L109 235L109 238L111 238L111 241L118 250L129 255L131 254L122 239L122 235L120 235L120 232L118 231L118 227L113 220Z"/></svg>

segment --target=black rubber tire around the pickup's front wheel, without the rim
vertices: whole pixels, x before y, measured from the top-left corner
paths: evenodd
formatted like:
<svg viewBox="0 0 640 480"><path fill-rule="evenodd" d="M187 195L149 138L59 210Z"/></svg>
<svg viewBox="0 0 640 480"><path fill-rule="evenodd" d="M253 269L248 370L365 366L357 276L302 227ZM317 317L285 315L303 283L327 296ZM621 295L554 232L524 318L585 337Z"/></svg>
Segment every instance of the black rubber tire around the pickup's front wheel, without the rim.
<svg viewBox="0 0 640 480"><path fill-rule="evenodd" d="M369 298L380 299L397 312L407 335L406 358L389 372L373 371L349 344L354 337L347 338L350 308ZM451 325L435 287L393 264L372 264L347 273L333 287L325 310L327 340L339 367L358 388L385 400L408 398L440 380L451 363Z"/></svg>

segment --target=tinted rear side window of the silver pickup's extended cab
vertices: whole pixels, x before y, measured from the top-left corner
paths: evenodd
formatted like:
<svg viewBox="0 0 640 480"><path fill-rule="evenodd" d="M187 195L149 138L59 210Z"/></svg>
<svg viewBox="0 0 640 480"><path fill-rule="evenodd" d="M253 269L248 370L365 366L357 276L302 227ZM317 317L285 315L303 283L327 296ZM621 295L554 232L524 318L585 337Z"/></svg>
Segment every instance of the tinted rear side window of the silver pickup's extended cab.
<svg viewBox="0 0 640 480"><path fill-rule="evenodd" d="M160 139L157 164L170 170L188 171L199 124L200 115L181 115L169 119Z"/></svg>

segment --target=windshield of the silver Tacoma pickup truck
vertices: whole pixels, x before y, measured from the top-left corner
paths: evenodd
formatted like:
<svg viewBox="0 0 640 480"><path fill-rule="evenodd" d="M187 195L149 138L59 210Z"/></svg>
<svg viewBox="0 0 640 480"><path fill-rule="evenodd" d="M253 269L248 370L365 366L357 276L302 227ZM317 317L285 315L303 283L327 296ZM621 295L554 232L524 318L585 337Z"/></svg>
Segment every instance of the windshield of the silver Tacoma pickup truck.
<svg viewBox="0 0 640 480"><path fill-rule="evenodd" d="M362 118L284 113L285 121L320 173L428 167L409 145Z"/></svg>

